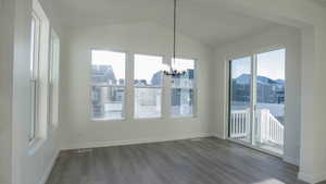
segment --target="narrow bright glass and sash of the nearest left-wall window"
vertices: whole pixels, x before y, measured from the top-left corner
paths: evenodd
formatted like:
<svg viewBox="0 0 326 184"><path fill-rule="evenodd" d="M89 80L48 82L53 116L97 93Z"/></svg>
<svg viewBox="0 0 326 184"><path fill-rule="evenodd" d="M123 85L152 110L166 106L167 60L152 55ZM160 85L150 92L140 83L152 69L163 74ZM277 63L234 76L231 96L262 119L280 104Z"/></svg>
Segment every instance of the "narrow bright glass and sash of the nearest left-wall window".
<svg viewBox="0 0 326 184"><path fill-rule="evenodd" d="M38 125L38 84L39 84L39 42L40 42L40 20L32 14L30 30L30 130L29 142L36 138L36 130Z"/></svg>

